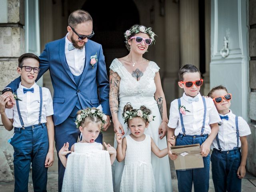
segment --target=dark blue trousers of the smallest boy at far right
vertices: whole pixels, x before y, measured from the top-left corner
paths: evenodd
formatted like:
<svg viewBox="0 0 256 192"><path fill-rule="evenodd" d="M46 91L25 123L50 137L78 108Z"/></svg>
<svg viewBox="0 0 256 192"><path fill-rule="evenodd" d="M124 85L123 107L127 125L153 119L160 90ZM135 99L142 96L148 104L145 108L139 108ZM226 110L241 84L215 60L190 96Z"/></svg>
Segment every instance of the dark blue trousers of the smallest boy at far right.
<svg viewBox="0 0 256 192"><path fill-rule="evenodd" d="M242 179L236 172L241 163L239 149L222 151L214 149L211 155L212 180L216 192L240 192Z"/></svg>

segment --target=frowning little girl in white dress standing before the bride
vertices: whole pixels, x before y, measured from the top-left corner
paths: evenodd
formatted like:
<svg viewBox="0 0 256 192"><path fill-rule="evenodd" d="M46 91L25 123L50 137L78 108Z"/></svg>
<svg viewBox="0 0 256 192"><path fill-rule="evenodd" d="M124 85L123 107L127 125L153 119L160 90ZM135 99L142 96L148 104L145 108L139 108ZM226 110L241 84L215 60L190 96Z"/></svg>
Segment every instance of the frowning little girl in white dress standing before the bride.
<svg viewBox="0 0 256 192"><path fill-rule="evenodd" d="M156 184L151 165L151 151L162 158L168 154L167 148L160 150L148 134L144 134L149 122L154 120L151 110L145 106L133 109L130 103L124 106L124 122L128 124L131 134L122 138L116 134L118 146L116 159L124 161L124 170L120 184L120 192L155 192ZM175 139L168 140L175 144Z"/></svg>

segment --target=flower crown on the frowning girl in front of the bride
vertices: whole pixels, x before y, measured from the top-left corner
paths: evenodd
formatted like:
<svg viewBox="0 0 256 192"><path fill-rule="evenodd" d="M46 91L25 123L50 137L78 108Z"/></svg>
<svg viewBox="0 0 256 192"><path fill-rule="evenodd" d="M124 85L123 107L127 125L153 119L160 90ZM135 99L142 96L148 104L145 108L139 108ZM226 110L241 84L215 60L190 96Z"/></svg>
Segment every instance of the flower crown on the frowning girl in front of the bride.
<svg viewBox="0 0 256 192"><path fill-rule="evenodd" d="M145 119L148 122L154 121L154 118L156 117L153 116L151 114L151 110L146 108L144 105L140 106L140 109L134 109L131 103L127 103L124 106L124 112L122 114L122 117L124 118L124 123L127 123L129 119L138 116Z"/></svg>

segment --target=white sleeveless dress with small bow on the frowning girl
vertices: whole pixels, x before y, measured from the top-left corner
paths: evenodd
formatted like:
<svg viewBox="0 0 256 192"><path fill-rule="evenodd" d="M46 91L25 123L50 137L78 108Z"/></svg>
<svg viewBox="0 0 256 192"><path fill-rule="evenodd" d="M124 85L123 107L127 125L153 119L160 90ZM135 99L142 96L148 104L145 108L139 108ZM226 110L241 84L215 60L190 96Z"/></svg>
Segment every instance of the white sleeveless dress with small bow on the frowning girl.
<svg viewBox="0 0 256 192"><path fill-rule="evenodd" d="M151 138L135 141L126 135L126 153L120 192L155 192L155 178L151 165Z"/></svg>

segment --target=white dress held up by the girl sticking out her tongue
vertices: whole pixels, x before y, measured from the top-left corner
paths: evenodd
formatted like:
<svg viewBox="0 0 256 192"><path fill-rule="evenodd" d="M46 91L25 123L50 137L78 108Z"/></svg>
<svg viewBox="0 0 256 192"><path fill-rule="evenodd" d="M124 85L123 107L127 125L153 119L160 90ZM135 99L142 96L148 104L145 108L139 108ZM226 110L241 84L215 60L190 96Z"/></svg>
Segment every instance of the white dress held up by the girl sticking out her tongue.
<svg viewBox="0 0 256 192"><path fill-rule="evenodd" d="M62 192L113 191L111 162L102 144L75 143L68 156Z"/></svg>

